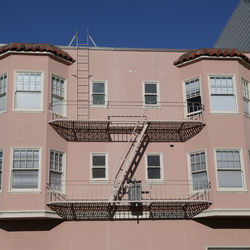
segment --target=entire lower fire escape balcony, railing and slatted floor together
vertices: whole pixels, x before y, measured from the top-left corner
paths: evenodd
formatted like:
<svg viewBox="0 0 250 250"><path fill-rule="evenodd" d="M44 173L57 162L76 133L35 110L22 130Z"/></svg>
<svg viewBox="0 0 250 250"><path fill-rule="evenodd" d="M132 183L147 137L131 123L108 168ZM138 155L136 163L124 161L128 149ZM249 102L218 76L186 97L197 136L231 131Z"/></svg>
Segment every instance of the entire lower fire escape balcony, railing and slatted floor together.
<svg viewBox="0 0 250 250"><path fill-rule="evenodd" d="M114 183L70 181L65 193L48 186L47 206L65 220L190 219L210 205L209 183L166 180L125 182L113 197ZM200 187L199 190L190 190Z"/></svg>

